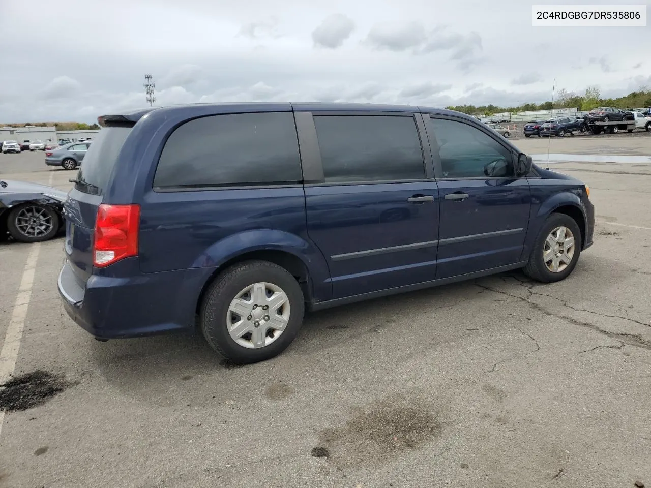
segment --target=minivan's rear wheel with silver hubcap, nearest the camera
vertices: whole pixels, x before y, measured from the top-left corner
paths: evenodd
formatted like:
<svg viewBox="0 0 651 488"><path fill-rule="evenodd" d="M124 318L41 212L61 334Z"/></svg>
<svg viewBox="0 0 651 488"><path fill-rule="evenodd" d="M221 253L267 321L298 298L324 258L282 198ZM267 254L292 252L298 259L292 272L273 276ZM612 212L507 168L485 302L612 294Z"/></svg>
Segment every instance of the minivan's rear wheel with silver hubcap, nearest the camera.
<svg viewBox="0 0 651 488"><path fill-rule="evenodd" d="M199 312L210 347L233 362L271 359L303 323L303 291L286 269L267 261L235 264L210 284Z"/></svg>

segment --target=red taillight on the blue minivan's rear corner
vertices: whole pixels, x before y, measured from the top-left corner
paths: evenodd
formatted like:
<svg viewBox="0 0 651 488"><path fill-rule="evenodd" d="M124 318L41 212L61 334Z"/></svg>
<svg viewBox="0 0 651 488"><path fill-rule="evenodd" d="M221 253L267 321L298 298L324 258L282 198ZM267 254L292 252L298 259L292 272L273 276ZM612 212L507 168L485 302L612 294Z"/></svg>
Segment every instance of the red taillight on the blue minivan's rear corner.
<svg viewBox="0 0 651 488"><path fill-rule="evenodd" d="M92 264L106 267L137 256L140 206L101 204L95 221Z"/></svg>

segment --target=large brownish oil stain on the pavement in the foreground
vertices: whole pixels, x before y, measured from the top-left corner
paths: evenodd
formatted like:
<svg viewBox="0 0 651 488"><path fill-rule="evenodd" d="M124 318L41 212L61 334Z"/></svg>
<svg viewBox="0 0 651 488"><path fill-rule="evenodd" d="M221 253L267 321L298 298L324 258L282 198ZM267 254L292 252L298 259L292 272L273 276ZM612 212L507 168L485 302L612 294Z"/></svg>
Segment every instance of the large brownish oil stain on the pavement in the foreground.
<svg viewBox="0 0 651 488"><path fill-rule="evenodd" d="M318 445L342 466L381 464L422 448L441 435L441 424L428 409L414 405L381 401L359 409L343 426L320 431Z"/></svg>

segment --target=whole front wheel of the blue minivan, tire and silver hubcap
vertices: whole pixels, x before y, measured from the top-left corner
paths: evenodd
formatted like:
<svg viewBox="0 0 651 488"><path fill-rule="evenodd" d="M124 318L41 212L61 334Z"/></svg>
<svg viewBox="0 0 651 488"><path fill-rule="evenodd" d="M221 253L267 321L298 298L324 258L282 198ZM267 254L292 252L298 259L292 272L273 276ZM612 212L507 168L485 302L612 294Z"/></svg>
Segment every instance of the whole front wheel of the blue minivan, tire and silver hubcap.
<svg viewBox="0 0 651 488"><path fill-rule="evenodd" d="M544 283L564 280L579 260L581 239L579 225L572 217L552 213L536 236L525 274Z"/></svg>

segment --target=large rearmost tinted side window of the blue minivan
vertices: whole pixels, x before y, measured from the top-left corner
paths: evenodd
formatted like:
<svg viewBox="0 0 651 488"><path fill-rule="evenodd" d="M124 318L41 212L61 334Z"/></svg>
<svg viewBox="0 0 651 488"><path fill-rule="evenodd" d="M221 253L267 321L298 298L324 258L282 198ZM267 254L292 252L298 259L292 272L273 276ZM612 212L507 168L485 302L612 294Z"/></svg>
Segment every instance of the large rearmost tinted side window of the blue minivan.
<svg viewBox="0 0 651 488"><path fill-rule="evenodd" d="M303 180L290 112L190 120L165 142L154 187L298 183Z"/></svg>

